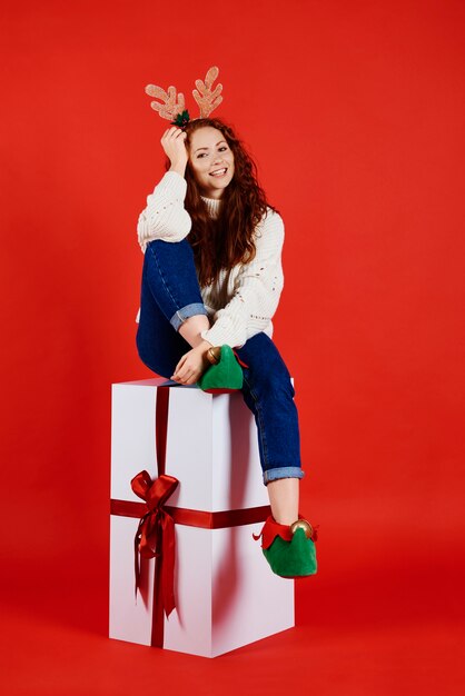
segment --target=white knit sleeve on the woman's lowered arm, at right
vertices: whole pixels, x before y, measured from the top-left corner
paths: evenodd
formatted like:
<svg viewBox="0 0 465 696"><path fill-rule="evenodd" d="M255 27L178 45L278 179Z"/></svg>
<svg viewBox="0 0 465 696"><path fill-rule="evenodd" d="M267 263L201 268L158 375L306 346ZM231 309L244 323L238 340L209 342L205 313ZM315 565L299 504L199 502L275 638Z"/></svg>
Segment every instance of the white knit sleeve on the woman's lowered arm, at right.
<svg viewBox="0 0 465 696"><path fill-rule="evenodd" d="M277 212L268 209L255 241L256 256L240 268L231 299L216 311L214 326L201 332L214 346L244 346L248 338L270 326L278 307L284 287L284 223Z"/></svg>

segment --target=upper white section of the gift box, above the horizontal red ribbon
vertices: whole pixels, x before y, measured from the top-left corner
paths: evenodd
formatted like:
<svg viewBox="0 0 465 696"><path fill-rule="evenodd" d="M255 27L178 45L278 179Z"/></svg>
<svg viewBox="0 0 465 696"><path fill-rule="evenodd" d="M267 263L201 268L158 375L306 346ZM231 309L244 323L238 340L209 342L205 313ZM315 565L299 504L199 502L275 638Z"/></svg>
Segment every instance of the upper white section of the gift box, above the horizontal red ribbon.
<svg viewBox="0 0 465 696"><path fill-rule="evenodd" d="M112 386L111 497L138 500L131 479L142 469L158 475L157 385L141 380ZM168 504L220 511L268 505L254 417L237 394L170 389L166 474L179 480Z"/></svg>

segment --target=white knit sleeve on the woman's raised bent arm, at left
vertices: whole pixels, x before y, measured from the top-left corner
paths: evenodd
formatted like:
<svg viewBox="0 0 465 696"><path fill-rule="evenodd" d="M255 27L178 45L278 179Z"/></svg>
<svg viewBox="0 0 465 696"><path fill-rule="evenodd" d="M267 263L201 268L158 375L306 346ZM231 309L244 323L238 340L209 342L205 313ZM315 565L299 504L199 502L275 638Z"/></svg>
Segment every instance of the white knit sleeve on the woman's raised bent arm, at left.
<svg viewBox="0 0 465 696"><path fill-rule="evenodd" d="M137 223L137 237L144 252L154 239L180 241L189 233L191 219L184 207L186 192L186 179L177 171L167 171L147 197L147 207Z"/></svg>

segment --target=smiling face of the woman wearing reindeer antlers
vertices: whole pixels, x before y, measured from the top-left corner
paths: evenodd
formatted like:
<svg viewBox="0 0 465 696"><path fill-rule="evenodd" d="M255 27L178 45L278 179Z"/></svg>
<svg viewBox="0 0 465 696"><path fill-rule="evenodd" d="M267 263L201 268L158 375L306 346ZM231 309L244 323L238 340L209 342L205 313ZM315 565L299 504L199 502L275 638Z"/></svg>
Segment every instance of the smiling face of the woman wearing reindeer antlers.
<svg viewBox="0 0 465 696"><path fill-rule="evenodd" d="M205 126L190 136L189 161L206 198L221 198L234 176L234 155L217 128Z"/></svg>

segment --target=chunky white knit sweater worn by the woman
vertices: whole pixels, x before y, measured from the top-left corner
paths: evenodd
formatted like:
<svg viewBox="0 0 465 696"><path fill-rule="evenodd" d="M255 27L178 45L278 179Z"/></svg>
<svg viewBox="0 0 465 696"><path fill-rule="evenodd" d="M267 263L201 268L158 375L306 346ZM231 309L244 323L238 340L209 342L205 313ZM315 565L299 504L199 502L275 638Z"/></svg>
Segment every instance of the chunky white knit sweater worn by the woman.
<svg viewBox="0 0 465 696"><path fill-rule="evenodd" d="M187 237L191 219L184 207L186 191L186 179L176 171L167 171L147 197L147 207L137 225L142 252L154 239L175 242ZM202 199L209 215L216 218L221 199ZM271 317L284 285L283 242L283 219L268 208L255 230L255 258L249 264L238 264L230 270L221 270L215 284L200 288L212 325L201 332L205 340L214 346L227 344L240 347L259 331L273 336ZM136 321L139 315L140 310Z"/></svg>

